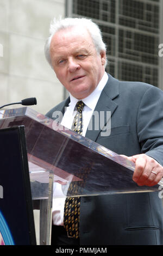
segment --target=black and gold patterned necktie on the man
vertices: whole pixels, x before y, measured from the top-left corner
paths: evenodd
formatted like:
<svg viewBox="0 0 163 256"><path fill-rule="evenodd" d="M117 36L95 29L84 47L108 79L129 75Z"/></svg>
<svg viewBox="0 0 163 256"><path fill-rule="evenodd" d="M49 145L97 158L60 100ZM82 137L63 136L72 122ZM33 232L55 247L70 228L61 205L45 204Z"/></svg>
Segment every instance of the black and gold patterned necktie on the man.
<svg viewBox="0 0 163 256"><path fill-rule="evenodd" d="M82 135L82 111L84 103L83 101L77 102L77 113L74 117L72 130ZM73 187L70 190L73 190ZM78 239L79 237L79 215L80 215L80 197L67 197L65 200L64 209L64 227L68 236Z"/></svg>

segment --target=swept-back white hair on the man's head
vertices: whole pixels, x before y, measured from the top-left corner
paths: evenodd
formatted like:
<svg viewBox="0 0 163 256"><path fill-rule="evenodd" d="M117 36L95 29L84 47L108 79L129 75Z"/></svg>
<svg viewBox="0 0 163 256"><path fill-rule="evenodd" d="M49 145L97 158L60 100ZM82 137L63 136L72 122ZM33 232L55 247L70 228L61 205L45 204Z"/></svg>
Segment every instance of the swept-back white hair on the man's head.
<svg viewBox="0 0 163 256"><path fill-rule="evenodd" d="M59 18L57 20L54 18L51 22L51 26L49 29L49 36L45 44L45 57L51 66L52 66L52 62L51 62L49 49L50 49L53 35L56 32L60 31L61 29L66 29L74 26L82 26L87 29L87 31L91 35L91 38L92 38L93 44L95 45L97 53L101 53L101 51L106 52L106 45L103 42L102 33L99 27L96 25L96 23L92 22L92 20L85 19L85 18L64 18L64 19Z"/></svg>

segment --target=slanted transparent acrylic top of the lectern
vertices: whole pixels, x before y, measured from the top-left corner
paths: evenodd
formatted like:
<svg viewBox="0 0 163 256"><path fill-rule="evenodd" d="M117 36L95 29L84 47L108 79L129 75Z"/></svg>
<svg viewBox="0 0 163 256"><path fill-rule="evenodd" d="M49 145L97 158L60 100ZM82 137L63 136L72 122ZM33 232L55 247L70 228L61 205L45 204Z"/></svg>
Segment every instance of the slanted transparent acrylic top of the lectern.
<svg viewBox="0 0 163 256"><path fill-rule="evenodd" d="M7 109L0 118L0 129L25 126L29 172L42 183L45 172L53 172L54 182L62 185L57 197L158 190L158 185L135 184L133 162L32 108Z"/></svg>

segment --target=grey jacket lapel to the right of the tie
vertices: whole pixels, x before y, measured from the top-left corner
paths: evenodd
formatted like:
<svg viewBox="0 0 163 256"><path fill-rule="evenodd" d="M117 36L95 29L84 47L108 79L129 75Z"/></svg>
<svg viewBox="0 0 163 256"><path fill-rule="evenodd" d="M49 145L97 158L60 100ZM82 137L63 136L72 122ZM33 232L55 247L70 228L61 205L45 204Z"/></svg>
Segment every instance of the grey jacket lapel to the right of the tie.
<svg viewBox="0 0 163 256"><path fill-rule="evenodd" d="M86 131L85 137L90 138L92 141L96 141L99 133L103 130L103 127L101 127L100 118L102 118L102 112L104 114L104 121L102 122L104 126L109 121L110 115L106 115L107 111L111 112L111 115L115 112L117 108L117 103L114 101L114 99L119 95L119 82L115 78L113 78L111 75L109 75L108 82L106 83L101 96L99 97L99 100L97 102L97 105L95 107L95 112L98 112L98 130L89 130L89 128ZM96 115L95 115L96 116ZM90 124L92 123L92 119L90 120ZM91 125L90 125L91 127Z"/></svg>

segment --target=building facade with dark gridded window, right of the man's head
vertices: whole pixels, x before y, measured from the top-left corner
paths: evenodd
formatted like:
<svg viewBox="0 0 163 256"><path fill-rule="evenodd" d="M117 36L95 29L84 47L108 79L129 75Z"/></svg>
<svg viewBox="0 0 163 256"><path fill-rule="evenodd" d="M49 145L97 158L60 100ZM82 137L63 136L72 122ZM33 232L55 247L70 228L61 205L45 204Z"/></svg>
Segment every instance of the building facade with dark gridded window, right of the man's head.
<svg viewBox="0 0 163 256"><path fill-rule="evenodd" d="M123 81L162 86L162 1L70 0L67 16L89 17L103 32L108 71Z"/></svg>

